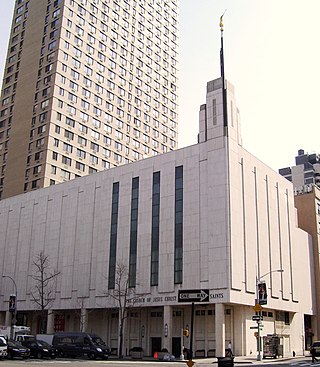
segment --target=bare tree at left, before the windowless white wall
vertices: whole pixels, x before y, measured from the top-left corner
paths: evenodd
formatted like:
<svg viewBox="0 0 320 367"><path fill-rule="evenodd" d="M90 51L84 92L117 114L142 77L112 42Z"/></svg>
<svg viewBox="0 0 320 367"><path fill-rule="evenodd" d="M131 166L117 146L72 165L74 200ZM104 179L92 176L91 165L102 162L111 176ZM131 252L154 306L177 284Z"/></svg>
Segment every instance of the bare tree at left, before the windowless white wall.
<svg viewBox="0 0 320 367"><path fill-rule="evenodd" d="M40 251L32 263L34 286L30 291L31 301L41 310L41 333L47 332L47 308L54 300L55 280L59 271L51 270L49 256Z"/></svg>

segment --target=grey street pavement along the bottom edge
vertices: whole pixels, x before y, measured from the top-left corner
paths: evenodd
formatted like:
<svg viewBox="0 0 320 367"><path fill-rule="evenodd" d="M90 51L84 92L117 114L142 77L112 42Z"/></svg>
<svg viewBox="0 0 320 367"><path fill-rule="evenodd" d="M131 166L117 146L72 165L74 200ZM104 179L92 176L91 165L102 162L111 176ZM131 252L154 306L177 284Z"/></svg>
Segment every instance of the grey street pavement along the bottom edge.
<svg viewBox="0 0 320 367"><path fill-rule="evenodd" d="M24 367L24 366L34 366L34 367L84 367L84 366L108 366L108 367L135 367L135 366L145 366L145 367L182 367L187 366L187 361L175 361L175 362L163 362L163 361L147 361L147 360L87 360L87 359L55 359L55 360L38 360L38 359L28 359L28 360L0 360L0 367ZM194 367L212 367L212 365L218 366L214 359L200 359L194 360ZM274 360L267 359L261 362L255 360L249 360L245 358L235 358L235 367L244 366L281 366L281 367L320 367L320 362L311 363L311 358L308 357L297 357L291 359Z"/></svg>

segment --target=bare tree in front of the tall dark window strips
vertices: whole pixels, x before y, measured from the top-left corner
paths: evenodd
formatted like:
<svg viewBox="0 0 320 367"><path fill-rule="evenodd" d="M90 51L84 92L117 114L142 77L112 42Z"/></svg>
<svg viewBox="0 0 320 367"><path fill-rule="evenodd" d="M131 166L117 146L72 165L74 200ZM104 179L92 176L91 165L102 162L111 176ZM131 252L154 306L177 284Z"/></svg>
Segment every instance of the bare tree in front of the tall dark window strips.
<svg viewBox="0 0 320 367"><path fill-rule="evenodd" d="M107 293L108 297L114 299L119 310L119 358L123 358L123 332L125 319L128 317L128 310L134 303L136 298L136 290L134 287L129 287L129 271L126 265L116 265L115 287Z"/></svg>

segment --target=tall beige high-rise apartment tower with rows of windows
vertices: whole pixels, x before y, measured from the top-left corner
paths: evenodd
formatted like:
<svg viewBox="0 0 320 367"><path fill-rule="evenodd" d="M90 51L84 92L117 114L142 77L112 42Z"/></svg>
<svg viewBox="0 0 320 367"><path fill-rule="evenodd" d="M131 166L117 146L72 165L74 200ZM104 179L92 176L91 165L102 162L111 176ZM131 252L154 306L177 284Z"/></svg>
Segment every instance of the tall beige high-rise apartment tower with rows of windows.
<svg viewBox="0 0 320 367"><path fill-rule="evenodd" d="M179 0L16 0L0 198L177 147Z"/></svg>

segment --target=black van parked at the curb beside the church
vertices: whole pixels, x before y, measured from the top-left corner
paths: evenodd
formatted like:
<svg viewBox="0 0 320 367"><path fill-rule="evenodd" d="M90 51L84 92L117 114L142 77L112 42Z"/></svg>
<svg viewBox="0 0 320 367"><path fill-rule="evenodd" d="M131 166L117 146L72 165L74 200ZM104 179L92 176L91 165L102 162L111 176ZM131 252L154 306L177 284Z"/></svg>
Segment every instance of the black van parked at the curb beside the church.
<svg viewBox="0 0 320 367"><path fill-rule="evenodd" d="M87 356L90 359L107 359L110 355L110 348L105 342L99 336L89 333L55 333L52 346L57 350L58 357Z"/></svg>

